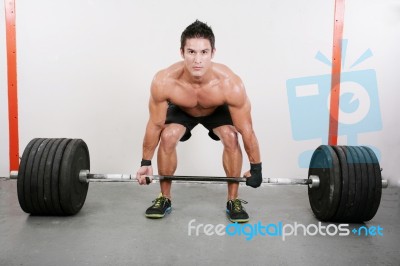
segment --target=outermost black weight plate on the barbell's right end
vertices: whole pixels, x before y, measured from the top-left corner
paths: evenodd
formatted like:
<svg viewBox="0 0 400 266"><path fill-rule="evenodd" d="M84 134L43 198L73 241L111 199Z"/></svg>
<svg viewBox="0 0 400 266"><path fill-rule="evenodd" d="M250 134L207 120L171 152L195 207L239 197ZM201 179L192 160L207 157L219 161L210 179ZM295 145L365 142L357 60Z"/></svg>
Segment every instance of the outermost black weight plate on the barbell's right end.
<svg viewBox="0 0 400 266"><path fill-rule="evenodd" d="M369 221L372 218L374 218L376 212L378 211L379 204L381 202L381 196L382 196L382 176L381 176L381 167L379 165L378 158L376 157L374 151L369 148L363 146L363 148L369 153L371 157L371 164L373 166L374 170L374 177L375 177L375 194L374 194L374 200L372 207L370 208L369 212L365 216L364 221Z"/></svg>

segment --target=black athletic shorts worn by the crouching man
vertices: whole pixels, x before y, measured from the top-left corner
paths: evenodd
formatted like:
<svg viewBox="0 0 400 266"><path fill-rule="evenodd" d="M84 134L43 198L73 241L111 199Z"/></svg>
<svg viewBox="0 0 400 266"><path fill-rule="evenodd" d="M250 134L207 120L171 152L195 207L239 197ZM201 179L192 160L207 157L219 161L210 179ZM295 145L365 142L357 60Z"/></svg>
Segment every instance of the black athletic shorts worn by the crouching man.
<svg viewBox="0 0 400 266"><path fill-rule="evenodd" d="M185 135L180 141L186 141L192 136L192 129L198 124L202 124L208 129L208 135L213 140L219 140L219 137L212 131L214 128L224 125L233 125L231 114L227 105L221 105L215 111L207 116L194 117L182 111L178 106L168 103L167 119L165 124L176 123L186 127Z"/></svg>

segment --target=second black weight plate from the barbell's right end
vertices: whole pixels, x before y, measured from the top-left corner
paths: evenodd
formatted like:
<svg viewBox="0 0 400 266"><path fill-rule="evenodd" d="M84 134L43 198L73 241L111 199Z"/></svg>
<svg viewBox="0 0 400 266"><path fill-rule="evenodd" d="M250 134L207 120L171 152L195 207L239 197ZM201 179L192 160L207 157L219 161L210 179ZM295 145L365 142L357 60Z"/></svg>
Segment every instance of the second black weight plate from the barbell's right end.
<svg viewBox="0 0 400 266"><path fill-rule="evenodd" d="M357 146L353 146L352 148L357 153L358 156L357 163L359 164L361 170L361 199L355 222L363 222L365 208L367 207L368 203L368 183L369 183L368 168L364 154L360 150L360 148Z"/></svg>

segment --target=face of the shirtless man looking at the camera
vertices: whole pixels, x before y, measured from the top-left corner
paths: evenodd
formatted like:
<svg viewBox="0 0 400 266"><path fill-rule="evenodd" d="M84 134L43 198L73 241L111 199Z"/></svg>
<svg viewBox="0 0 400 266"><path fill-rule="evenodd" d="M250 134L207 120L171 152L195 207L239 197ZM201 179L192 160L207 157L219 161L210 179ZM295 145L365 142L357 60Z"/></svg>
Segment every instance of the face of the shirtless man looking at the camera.
<svg viewBox="0 0 400 266"><path fill-rule="evenodd" d="M210 68L211 59L214 57L210 41L203 38L187 39L181 54L186 69L193 77L203 76Z"/></svg>

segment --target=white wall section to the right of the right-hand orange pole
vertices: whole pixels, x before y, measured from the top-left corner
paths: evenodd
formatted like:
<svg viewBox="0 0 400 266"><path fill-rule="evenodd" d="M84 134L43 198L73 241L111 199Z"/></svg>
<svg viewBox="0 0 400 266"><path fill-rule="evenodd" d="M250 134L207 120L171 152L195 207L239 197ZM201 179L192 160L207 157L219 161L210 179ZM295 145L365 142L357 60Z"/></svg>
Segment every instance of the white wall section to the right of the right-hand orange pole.
<svg viewBox="0 0 400 266"><path fill-rule="evenodd" d="M349 39L347 69L365 50L372 56L350 71L376 71L382 129L359 135L360 144L377 147L381 152L383 176L400 185L399 84L400 76L400 2L396 0L346 1L344 37ZM372 107L371 107L372 108Z"/></svg>

